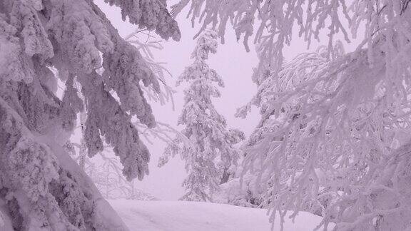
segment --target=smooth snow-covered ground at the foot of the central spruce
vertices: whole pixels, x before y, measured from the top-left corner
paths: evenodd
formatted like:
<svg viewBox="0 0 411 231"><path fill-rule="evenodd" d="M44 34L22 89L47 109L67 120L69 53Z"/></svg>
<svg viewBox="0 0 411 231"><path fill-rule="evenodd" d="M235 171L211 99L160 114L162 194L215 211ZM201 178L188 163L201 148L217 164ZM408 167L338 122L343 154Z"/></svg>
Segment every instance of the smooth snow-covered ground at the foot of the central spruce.
<svg viewBox="0 0 411 231"><path fill-rule="evenodd" d="M131 231L259 231L270 230L267 210L186 201L109 200ZM280 230L279 218L274 230ZM299 212L285 220L284 231L314 230L321 217ZM328 226L332 230L331 225Z"/></svg>

